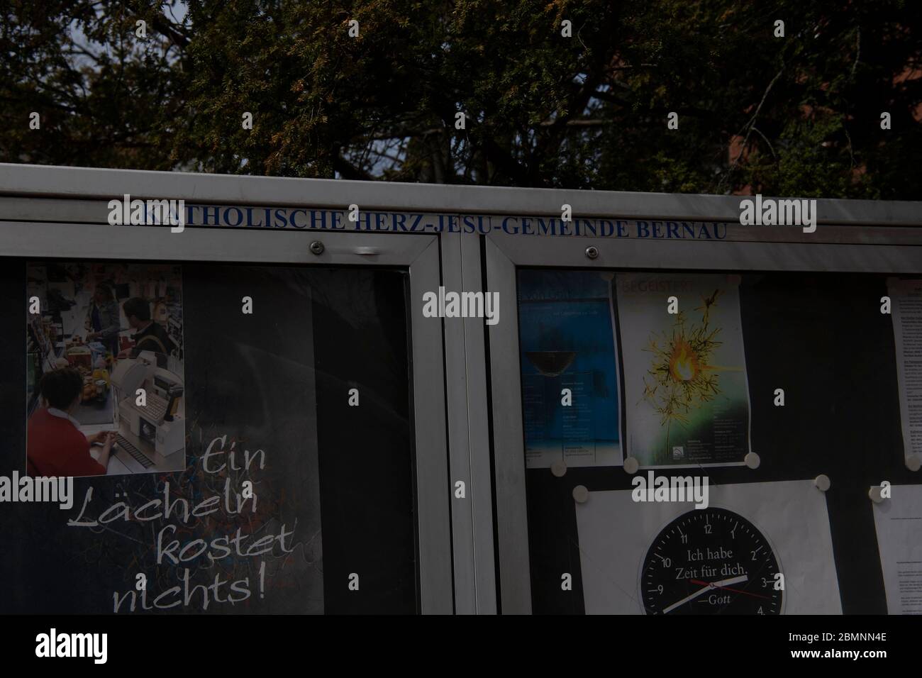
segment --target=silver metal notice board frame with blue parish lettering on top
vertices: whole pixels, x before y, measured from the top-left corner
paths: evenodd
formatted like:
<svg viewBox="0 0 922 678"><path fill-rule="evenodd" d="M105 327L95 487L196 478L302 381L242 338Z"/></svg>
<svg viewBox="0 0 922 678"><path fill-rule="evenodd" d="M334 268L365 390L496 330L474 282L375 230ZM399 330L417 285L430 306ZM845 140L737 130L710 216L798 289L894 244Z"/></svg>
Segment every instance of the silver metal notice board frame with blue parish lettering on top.
<svg viewBox="0 0 922 678"><path fill-rule="evenodd" d="M429 215L439 227L337 232L210 225L171 234L165 227L109 226L107 203L124 194L259 208L357 205ZM922 273L922 202L817 200L818 228L804 233L739 225L739 200L0 164L0 257L407 268L420 609L529 613L516 268ZM644 220L652 237L549 236L518 228L524 219L560 220L563 205L577 220L624 220L629 228ZM465 232L461 221L471 215L488 219L491 228ZM723 224L724 237L666 237L666 224L683 221ZM314 241L324 245L319 255L309 247ZM499 292L501 322L423 317L423 293L440 286ZM464 498L455 497L458 481L465 482Z"/></svg>

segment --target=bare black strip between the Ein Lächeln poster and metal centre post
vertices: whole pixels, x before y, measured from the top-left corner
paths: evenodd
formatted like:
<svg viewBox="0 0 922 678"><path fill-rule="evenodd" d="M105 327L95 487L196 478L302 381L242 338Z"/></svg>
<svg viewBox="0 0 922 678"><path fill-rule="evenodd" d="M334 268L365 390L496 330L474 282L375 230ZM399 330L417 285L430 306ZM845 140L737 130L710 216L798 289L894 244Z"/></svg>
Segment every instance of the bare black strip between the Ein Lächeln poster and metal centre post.
<svg viewBox="0 0 922 678"><path fill-rule="evenodd" d="M354 270L338 270L313 303L331 613L417 611L404 284L395 274L357 280ZM361 303L350 287L364 291ZM359 389L359 407L349 406L350 388ZM357 591L347 586L351 573Z"/></svg>

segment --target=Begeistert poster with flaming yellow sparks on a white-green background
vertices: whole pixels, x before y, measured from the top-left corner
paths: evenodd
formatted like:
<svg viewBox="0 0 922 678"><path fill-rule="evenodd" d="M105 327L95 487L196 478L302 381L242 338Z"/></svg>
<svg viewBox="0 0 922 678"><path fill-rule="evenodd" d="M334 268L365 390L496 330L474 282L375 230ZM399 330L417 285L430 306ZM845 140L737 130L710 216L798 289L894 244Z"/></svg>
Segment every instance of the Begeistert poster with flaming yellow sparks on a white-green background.
<svg viewBox="0 0 922 678"><path fill-rule="evenodd" d="M742 464L750 401L739 276L620 273L615 287L627 454L646 468Z"/></svg>

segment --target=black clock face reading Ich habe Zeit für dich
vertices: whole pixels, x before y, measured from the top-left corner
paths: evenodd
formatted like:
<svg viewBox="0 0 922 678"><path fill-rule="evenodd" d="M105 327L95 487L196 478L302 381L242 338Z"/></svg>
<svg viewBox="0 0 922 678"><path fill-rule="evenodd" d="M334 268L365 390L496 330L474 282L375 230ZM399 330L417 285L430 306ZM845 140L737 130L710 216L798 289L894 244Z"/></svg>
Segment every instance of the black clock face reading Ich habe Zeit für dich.
<svg viewBox="0 0 922 678"><path fill-rule="evenodd" d="M650 546L640 590L647 614L780 614L778 559L746 518L726 508L677 517Z"/></svg>

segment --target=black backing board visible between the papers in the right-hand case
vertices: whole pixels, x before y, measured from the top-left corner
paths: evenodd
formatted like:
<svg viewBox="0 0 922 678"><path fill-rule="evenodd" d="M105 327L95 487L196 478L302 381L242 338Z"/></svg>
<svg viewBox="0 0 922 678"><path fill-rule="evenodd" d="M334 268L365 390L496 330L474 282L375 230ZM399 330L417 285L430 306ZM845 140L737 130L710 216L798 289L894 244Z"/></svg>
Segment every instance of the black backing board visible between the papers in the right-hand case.
<svg viewBox="0 0 922 678"><path fill-rule="evenodd" d="M922 482L903 461L892 318L880 311L886 278L742 276L751 448L762 463L758 470L702 471L712 484L828 475L826 506L844 613L886 613L870 485ZM774 406L775 388L784 388L785 407ZM621 467L568 469L562 478L550 469L526 470L535 613L584 612L573 488L630 490L631 480ZM573 591L561 590L563 572L573 575Z"/></svg>

